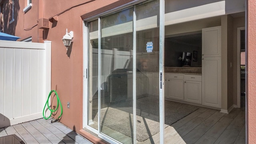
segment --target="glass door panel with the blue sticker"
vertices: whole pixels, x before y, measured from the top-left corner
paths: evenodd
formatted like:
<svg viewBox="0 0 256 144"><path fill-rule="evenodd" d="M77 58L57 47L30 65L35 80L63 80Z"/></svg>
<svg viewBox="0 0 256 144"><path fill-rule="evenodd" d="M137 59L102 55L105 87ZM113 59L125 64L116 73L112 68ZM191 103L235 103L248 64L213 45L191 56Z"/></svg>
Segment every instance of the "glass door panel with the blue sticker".
<svg viewBox="0 0 256 144"><path fill-rule="evenodd" d="M159 0L137 4L135 12L136 139L137 143L155 144L160 138Z"/></svg>

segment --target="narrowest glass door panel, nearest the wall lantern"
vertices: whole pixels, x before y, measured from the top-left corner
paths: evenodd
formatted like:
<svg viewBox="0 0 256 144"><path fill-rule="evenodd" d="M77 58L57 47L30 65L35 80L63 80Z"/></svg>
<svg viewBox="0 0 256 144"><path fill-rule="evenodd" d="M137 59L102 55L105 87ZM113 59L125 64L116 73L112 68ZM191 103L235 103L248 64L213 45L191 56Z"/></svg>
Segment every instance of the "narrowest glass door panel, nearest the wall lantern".
<svg viewBox="0 0 256 144"><path fill-rule="evenodd" d="M98 130L98 20L88 22L88 125Z"/></svg>

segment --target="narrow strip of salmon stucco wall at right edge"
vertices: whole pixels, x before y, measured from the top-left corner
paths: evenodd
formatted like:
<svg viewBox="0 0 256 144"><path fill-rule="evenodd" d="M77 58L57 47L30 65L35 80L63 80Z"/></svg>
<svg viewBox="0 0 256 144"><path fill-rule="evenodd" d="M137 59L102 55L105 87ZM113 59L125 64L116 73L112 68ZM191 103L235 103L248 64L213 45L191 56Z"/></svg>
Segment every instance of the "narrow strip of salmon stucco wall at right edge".
<svg viewBox="0 0 256 144"><path fill-rule="evenodd" d="M256 144L256 1L248 0L248 143Z"/></svg>

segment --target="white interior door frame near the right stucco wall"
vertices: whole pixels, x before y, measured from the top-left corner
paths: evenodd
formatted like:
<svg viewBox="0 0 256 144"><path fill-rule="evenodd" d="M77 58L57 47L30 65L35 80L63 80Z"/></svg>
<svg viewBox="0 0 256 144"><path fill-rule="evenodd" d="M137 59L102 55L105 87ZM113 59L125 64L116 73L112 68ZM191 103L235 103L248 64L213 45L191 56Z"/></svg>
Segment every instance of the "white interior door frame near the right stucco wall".
<svg viewBox="0 0 256 144"><path fill-rule="evenodd" d="M236 69L236 73L237 73L237 76L236 76L236 81L237 81L237 88L236 88L236 93L237 93L237 108L240 108L241 107L241 102L240 102L240 99L241 99L241 76L240 76L240 65L241 65L241 57L240 57L240 52L241 52L241 49L240 49L240 44L241 44L241 39L240 39L240 36L241 36L241 30L245 30L245 27L238 27L237 28L237 69Z"/></svg>

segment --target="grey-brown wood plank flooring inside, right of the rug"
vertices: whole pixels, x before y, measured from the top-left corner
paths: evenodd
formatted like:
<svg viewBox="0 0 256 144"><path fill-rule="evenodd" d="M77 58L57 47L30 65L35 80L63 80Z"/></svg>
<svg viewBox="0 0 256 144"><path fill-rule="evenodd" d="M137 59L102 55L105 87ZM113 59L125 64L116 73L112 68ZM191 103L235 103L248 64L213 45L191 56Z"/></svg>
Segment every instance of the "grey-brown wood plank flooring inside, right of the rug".
<svg viewBox="0 0 256 144"><path fill-rule="evenodd" d="M165 128L165 144L245 144L245 111L199 108ZM141 144L158 144L159 133ZM138 143L138 144L139 144Z"/></svg>

